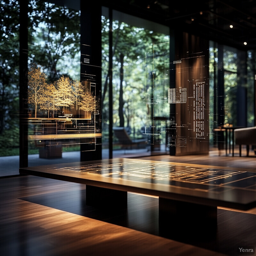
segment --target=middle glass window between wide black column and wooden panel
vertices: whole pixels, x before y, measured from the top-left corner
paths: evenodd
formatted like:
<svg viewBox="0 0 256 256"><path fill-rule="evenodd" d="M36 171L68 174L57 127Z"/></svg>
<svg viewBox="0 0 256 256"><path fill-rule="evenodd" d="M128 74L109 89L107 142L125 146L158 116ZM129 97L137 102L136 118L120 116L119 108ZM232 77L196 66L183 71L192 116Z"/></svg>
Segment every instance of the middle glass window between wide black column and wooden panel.
<svg viewBox="0 0 256 256"><path fill-rule="evenodd" d="M102 133L109 130L109 19L102 16ZM113 156L166 153L169 29L117 11L112 22ZM103 150L108 148L103 136ZM103 154L108 158L108 154Z"/></svg>

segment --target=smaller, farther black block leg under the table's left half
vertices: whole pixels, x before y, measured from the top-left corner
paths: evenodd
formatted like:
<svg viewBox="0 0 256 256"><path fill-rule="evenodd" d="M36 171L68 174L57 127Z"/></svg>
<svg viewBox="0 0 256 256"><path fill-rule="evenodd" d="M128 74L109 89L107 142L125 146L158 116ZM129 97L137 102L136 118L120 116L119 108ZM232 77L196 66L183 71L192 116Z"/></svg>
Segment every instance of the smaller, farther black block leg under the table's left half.
<svg viewBox="0 0 256 256"><path fill-rule="evenodd" d="M86 185L86 205L98 208L127 208L127 191Z"/></svg>

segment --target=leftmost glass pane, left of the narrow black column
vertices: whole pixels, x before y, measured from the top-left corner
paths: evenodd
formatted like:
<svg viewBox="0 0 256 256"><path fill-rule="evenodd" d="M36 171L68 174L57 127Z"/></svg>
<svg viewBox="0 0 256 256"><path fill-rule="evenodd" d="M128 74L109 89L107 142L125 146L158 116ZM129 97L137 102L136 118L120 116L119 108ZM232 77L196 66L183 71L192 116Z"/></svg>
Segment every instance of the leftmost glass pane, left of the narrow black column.
<svg viewBox="0 0 256 256"><path fill-rule="evenodd" d="M14 0L0 7L0 176L8 176L19 174L20 7Z"/></svg>

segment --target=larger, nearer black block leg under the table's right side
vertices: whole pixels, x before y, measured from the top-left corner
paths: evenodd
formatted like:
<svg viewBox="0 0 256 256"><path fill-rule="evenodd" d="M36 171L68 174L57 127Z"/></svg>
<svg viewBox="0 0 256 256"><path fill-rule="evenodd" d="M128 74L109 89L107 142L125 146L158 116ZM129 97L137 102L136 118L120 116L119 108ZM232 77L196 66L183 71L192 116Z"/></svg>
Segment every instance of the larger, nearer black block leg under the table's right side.
<svg viewBox="0 0 256 256"><path fill-rule="evenodd" d="M217 207L159 198L159 233L172 239L211 239L217 232Z"/></svg>

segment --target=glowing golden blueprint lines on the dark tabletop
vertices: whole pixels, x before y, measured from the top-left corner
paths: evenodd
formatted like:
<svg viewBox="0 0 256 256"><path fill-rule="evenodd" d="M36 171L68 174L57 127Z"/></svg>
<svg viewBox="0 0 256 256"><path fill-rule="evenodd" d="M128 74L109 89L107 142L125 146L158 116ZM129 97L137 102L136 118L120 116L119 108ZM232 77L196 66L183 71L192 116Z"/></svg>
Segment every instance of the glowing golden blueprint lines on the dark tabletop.
<svg viewBox="0 0 256 256"><path fill-rule="evenodd" d="M80 172L121 180L200 189L215 193L229 189L256 191L256 173L142 161L114 161L69 167L49 167L59 171Z"/></svg>

